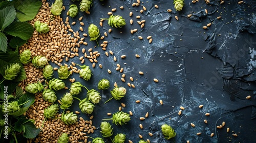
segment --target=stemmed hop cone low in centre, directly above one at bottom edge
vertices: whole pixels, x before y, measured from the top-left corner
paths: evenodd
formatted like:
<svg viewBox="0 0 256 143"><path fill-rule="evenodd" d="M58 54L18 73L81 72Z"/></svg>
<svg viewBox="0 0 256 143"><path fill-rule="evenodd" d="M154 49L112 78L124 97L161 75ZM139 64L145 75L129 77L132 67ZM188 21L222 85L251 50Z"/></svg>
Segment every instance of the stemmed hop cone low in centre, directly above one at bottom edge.
<svg viewBox="0 0 256 143"><path fill-rule="evenodd" d="M124 125L131 120L130 114L118 111L112 116L113 123L116 125Z"/></svg>

